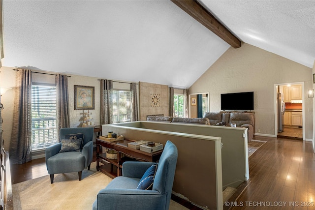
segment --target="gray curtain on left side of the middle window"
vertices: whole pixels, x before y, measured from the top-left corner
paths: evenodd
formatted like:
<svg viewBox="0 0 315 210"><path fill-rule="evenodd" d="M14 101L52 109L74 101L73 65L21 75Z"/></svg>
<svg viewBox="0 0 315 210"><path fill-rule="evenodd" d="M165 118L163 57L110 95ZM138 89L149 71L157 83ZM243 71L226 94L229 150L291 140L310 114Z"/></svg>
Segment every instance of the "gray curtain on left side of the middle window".
<svg viewBox="0 0 315 210"><path fill-rule="evenodd" d="M100 80L100 123L113 123L113 81Z"/></svg>

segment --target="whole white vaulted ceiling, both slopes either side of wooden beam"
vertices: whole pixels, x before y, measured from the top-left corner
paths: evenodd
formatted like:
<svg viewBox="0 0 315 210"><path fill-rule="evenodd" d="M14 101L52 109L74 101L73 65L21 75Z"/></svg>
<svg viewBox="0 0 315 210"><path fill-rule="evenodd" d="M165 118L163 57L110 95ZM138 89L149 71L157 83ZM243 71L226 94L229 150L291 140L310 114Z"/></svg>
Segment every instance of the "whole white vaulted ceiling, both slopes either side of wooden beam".
<svg viewBox="0 0 315 210"><path fill-rule="evenodd" d="M308 67L314 0L199 0L241 41ZM3 66L189 88L230 47L170 0L4 0Z"/></svg>

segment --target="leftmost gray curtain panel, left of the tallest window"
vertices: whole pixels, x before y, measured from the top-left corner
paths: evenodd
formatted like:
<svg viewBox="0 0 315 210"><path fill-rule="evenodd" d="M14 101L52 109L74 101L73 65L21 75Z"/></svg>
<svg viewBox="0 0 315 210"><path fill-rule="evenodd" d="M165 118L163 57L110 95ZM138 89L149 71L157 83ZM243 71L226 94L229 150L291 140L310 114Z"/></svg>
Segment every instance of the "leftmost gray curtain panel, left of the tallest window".
<svg viewBox="0 0 315 210"><path fill-rule="evenodd" d="M32 119L31 119L32 72L19 69L13 108L10 162L23 164L32 160Z"/></svg>

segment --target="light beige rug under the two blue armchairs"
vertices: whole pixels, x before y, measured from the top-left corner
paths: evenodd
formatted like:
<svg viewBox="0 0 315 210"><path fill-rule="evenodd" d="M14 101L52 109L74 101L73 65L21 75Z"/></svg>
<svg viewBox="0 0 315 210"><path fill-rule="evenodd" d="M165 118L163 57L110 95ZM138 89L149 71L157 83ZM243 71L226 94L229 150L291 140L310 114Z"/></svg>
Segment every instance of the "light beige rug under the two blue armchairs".
<svg viewBox="0 0 315 210"><path fill-rule="evenodd" d="M91 170L78 173L57 174L54 183L49 175L12 185L14 210L91 210L99 190L112 179L96 171L96 162ZM171 200L170 210L187 210Z"/></svg>

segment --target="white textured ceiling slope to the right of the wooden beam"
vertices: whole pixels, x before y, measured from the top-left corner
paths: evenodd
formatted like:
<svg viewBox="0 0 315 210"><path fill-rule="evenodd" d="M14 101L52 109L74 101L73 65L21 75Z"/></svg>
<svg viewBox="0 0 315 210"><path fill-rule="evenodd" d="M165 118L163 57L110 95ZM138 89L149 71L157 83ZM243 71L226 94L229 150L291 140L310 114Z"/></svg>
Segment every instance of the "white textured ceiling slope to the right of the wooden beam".
<svg viewBox="0 0 315 210"><path fill-rule="evenodd" d="M313 67L315 0L201 0L242 41Z"/></svg>

